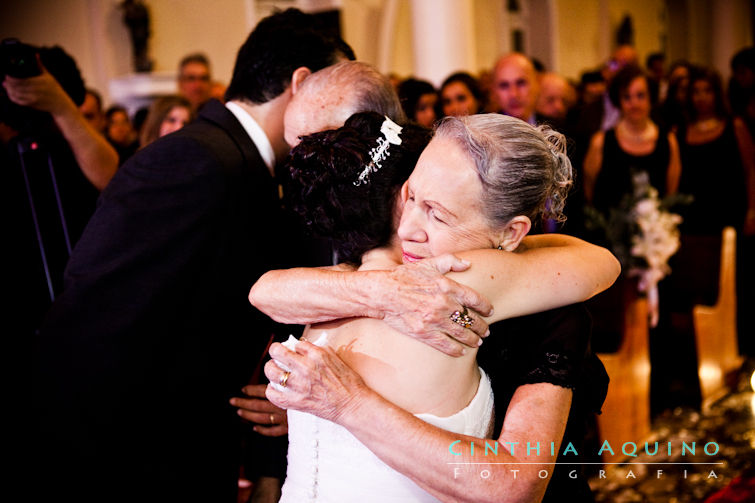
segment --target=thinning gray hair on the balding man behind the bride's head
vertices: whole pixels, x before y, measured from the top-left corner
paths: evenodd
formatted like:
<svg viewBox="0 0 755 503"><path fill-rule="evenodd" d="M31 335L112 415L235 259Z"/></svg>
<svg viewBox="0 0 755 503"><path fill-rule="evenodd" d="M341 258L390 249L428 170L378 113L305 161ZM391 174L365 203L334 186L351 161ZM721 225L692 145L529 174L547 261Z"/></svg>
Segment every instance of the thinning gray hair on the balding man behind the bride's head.
<svg viewBox="0 0 755 503"><path fill-rule="evenodd" d="M327 102L338 103L331 114L338 124L358 112L377 112L403 124L406 115L388 77L359 61L341 61L319 70L304 81L301 92L330 95Z"/></svg>

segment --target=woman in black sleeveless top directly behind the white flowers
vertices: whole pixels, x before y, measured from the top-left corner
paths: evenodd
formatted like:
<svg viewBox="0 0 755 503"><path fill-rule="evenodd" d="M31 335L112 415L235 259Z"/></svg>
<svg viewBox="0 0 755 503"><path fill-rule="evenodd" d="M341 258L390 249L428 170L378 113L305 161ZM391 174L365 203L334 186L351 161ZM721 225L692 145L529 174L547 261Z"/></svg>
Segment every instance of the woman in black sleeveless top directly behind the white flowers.
<svg viewBox="0 0 755 503"><path fill-rule="evenodd" d="M647 76L627 66L609 87L621 116L615 128L595 133L585 157L585 198L607 213L632 191L632 174L645 171L661 196L676 192L681 173L679 147L673 134L650 118Z"/></svg>

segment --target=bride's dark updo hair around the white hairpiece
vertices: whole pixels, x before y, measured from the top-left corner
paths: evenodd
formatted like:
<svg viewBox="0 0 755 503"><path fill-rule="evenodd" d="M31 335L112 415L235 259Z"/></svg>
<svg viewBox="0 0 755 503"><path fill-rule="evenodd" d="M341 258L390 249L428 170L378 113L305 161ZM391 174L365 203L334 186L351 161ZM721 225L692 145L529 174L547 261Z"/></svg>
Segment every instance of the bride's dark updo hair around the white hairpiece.
<svg viewBox="0 0 755 503"><path fill-rule="evenodd" d="M430 141L428 129L403 126L401 144L390 144L381 167L355 185L384 138L385 120L373 112L354 114L339 129L303 137L286 161L292 207L315 235L333 241L342 262L358 264L365 252L388 244L399 189Z"/></svg>

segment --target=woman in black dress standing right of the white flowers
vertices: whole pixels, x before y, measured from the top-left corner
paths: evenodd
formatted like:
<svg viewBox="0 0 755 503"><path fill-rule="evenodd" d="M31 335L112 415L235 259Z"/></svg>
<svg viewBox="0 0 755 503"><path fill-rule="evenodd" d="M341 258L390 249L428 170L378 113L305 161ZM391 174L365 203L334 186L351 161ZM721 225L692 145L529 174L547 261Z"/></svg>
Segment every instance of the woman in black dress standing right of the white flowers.
<svg viewBox="0 0 755 503"><path fill-rule="evenodd" d="M671 274L660 284L659 337L651 344L651 361L658 362L652 372L654 413L700 405L693 308L713 305L718 298L721 232L732 226L738 240L743 238L748 201L745 166L750 172L755 169L752 138L744 121L729 117L715 70L691 68L686 116L688 121L676 133L684 167L679 192L693 200L674 210L684 219L679 227L681 246L669 261ZM751 200L754 195L750 194ZM738 270L750 261L744 256L738 259ZM673 372L661 363L672 354L681 362Z"/></svg>

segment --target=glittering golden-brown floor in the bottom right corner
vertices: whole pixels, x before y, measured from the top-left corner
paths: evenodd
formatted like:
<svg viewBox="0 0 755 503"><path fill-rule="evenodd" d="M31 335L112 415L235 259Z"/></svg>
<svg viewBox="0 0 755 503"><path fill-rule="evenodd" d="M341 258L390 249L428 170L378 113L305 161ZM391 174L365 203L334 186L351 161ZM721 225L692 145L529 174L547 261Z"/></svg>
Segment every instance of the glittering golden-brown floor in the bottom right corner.
<svg viewBox="0 0 755 503"><path fill-rule="evenodd" d="M755 393L750 386L751 373L752 369L742 372L737 390L703 413L678 408L656 418L647 452L643 442L637 446L636 457L608 467L605 478L591 479L596 501L755 502ZM683 442L687 446L684 451ZM631 446L627 446L630 451ZM726 492L716 494L727 487Z"/></svg>

